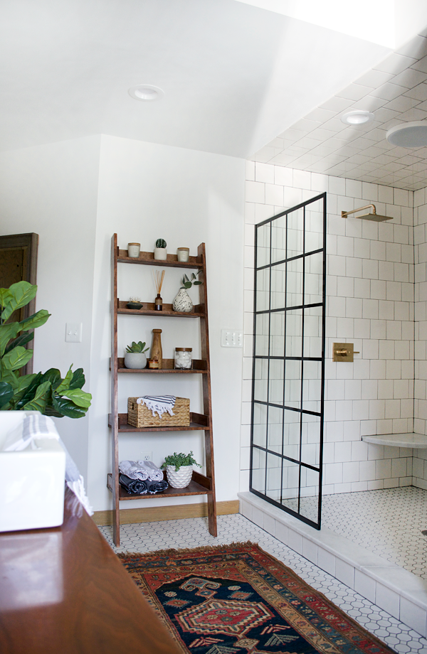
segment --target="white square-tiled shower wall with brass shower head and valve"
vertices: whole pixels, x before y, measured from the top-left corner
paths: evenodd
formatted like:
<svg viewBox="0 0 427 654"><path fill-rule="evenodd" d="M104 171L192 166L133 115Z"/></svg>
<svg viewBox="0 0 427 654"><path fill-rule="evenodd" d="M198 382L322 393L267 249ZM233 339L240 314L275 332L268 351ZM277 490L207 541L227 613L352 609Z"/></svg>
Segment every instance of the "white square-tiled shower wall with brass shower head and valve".
<svg viewBox="0 0 427 654"><path fill-rule="evenodd" d="M271 164L248 162L246 168L241 489L247 490L249 476L253 225L323 191L328 272L323 492L411 485L411 449L367 444L361 436L413 431L413 193ZM369 202L393 220L341 218L342 210ZM332 363L334 341L354 343L360 351L354 363Z"/></svg>

